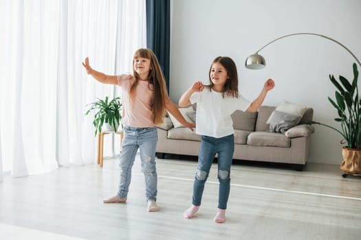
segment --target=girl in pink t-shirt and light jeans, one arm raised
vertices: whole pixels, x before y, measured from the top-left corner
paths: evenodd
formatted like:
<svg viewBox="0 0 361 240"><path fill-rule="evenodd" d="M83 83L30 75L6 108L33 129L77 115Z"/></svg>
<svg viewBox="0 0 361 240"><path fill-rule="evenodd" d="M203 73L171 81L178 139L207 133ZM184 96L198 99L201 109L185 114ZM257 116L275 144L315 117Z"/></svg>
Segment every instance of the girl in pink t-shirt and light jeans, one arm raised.
<svg viewBox="0 0 361 240"><path fill-rule="evenodd" d="M150 49L138 49L133 56L133 74L105 75L89 65L85 58L83 66L87 73L99 82L121 86L124 125L124 139L120 154L120 184L117 195L104 200L105 203L126 202L131 183L131 168L138 148L146 185L147 211L159 211L157 206L157 170L155 148L157 129L162 123L165 110L193 130L194 123L188 123L177 106L169 99L166 83L157 57Z"/></svg>

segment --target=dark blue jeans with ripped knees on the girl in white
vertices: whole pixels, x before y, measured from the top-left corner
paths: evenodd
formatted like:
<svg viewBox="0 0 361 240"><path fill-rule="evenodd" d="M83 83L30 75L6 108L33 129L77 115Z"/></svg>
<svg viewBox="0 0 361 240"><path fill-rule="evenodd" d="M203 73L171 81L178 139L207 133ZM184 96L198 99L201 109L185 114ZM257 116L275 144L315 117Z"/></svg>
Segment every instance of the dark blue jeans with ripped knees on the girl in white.
<svg viewBox="0 0 361 240"><path fill-rule="evenodd" d="M201 136L201 146L198 155L198 168L193 184L193 200L195 206L201 205L201 197L204 191L204 184L209 175L210 167L218 154L218 180L219 196L218 208L226 209L230 195L230 167L234 152L234 136L223 136L214 138L212 136Z"/></svg>

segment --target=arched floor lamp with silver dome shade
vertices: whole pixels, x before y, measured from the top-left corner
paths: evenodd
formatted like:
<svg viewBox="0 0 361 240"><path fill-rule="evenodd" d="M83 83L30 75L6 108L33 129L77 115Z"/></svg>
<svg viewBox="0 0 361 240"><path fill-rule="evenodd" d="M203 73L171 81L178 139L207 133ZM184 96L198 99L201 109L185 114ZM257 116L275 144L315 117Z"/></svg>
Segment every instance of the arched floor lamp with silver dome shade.
<svg viewBox="0 0 361 240"><path fill-rule="evenodd" d="M329 38L328 36L324 36L321 34L311 34L311 33L307 33L307 32L302 32L302 33L298 33L298 34L288 34L285 36L281 36L279 38L276 38L274 40L272 40L270 43L267 43L266 45L264 45L263 47L261 47L261 49L259 49L258 51L256 51L256 53L252 54L251 56L249 56L246 60L245 60L245 67L248 69L263 69L265 67L265 58L263 58L263 56L259 55L259 51L261 51L262 49L264 49L265 47L267 47L268 45L270 45L271 43L276 42L276 40L280 40L281 38L287 38L288 36L294 36L294 35L314 35L314 36L320 36L322 38L327 38L335 43L337 43L338 45L340 45L341 47L343 47L344 49L346 49L346 51L348 51L353 58L355 58L355 60L358 62L358 64L361 67L361 63L360 60L358 60L358 58L356 58L355 54L353 54L347 47L345 47L342 43Z"/></svg>

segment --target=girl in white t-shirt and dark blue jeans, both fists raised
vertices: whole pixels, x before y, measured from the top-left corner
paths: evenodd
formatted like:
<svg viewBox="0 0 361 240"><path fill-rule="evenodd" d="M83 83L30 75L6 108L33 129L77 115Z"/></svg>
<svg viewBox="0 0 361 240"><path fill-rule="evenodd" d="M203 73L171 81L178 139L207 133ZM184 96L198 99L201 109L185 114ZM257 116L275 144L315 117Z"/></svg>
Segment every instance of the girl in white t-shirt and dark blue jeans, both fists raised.
<svg viewBox="0 0 361 240"><path fill-rule="evenodd" d="M192 218L201 205L204 184L208 178L215 155L218 154L219 197L215 222L226 219L228 196L230 194L230 167L234 152L234 130L230 115L235 110L256 112L263 103L267 92L274 88L269 79L252 103L238 91L237 67L229 57L219 56L209 70L209 85L195 82L179 99L179 106L197 103L196 132L201 135L198 167L193 184L192 206L184 212L185 218Z"/></svg>

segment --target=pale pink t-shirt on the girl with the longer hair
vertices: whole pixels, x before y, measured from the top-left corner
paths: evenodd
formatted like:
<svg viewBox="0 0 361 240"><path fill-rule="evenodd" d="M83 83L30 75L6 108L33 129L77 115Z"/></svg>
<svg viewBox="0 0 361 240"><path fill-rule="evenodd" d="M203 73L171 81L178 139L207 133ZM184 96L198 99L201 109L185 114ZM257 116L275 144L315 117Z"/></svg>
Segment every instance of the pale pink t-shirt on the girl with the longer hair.
<svg viewBox="0 0 361 240"><path fill-rule="evenodd" d="M148 81L138 81L132 105L129 91L134 82L133 75L118 75L117 80L122 88L122 124L133 128L153 127L153 86Z"/></svg>

